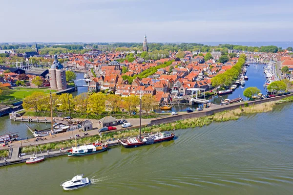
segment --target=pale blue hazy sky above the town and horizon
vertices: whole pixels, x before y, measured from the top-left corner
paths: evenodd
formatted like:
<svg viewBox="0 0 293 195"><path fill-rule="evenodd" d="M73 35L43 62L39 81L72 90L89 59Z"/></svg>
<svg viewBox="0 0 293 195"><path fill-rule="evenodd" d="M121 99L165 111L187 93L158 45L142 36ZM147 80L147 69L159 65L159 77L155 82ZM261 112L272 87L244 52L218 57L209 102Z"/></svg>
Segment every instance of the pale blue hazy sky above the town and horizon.
<svg viewBox="0 0 293 195"><path fill-rule="evenodd" d="M293 41L292 0L1 0L0 43Z"/></svg>

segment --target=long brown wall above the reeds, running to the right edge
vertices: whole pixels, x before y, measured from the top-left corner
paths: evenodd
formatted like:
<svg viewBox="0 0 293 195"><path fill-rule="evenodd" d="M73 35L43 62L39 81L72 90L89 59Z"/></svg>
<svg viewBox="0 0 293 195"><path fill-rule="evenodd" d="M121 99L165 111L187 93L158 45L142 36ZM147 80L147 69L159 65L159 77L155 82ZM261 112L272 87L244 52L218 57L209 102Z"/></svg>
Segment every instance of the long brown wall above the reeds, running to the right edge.
<svg viewBox="0 0 293 195"><path fill-rule="evenodd" d="M244 107L245 103L248 103L248 105L253 105L253 104L262 104L265 102L272 102L272 101L277 101L286 97L293 96L293 94L288 94L288 95L283 95L283 96L276 96L268 99L263 99L263 100L255 100L255 101L249 101L249 102L240 102L240 103L235 103L235 104L230 104L230 105L225 105L222 106L221 108L214 108L211 110L203 110L203 111L195 111L192 113L186 113L186 114L180 114L180 115L174 115L174 116L167 116L167 117L162 117L162 118L156 118L152 119L150 121L151 125L160 125L162 123L171 123L171 122L176 122L179 120L184 120L184 119L189 119L189 118L198 118L198 117L203 117L203 116L210 116L213 115L217 112L222 112L225 110L233 110L236 108L239 108L240 106Z"/></svg>

